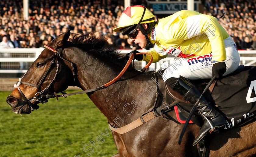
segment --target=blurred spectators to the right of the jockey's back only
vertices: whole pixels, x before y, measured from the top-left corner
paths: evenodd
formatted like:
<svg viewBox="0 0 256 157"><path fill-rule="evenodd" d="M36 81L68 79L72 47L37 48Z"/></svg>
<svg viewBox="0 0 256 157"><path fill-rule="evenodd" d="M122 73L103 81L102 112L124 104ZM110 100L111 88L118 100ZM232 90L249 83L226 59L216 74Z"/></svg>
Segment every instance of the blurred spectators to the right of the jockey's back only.
<svg viewBox="0 0 256 157"><path fill-rule="evenodd" d="M206 0L204 6L209 15L221 20L237 49L256 50L256 0Z"/></svg>

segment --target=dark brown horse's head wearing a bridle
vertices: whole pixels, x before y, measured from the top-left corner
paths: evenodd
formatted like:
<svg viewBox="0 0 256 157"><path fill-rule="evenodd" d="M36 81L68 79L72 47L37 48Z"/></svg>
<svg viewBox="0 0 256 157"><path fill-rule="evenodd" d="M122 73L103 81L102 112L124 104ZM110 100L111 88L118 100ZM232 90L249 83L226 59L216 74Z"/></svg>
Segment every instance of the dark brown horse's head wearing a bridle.
<svg viewBox="0 0 256 157"><path fill-rule="evenodd" d="M48 47L45 46L27 73L14 85L16 88L6 99L13 112L29 114L39 108L37 104L47 102L48 98L42 98L42 94L60 92L72 85L73 81L69 80L73 78L72 70L69 64L65 64L71 62L63 57L69 35L70 30L56 37Z"/></svg>

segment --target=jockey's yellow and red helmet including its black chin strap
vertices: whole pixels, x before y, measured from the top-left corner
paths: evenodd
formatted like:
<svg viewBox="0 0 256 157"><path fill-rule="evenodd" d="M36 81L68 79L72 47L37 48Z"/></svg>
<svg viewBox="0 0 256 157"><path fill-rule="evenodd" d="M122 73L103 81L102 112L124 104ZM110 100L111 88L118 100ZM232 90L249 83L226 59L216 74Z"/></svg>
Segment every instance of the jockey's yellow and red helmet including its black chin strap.
<svg viewBox="0 0 256 157"><path fill-rule="evenodd" d="M145 30L141 24L147 23L148 29ZM147 36L153 27L155 26L155 16L147 8L141 5L134 5L127 7L125 11L122 12L119 17L118 27L114 28L113 31L120 32L123 35L126 35L132 30L137 28ZM146 37L147 39L148 37ZM149 44L149 40L147 40Z"/></svg>

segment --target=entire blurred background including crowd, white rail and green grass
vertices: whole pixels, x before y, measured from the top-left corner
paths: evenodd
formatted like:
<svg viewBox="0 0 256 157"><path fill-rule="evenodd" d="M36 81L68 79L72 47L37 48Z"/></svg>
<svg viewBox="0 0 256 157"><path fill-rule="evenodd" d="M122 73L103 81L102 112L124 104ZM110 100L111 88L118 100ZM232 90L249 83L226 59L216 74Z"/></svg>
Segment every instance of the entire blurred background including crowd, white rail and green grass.
<svg viewBox="0 0 256 157"><path fill-rule="evenodd" d="M50 100L38 111L22 117L10 110L5 99L14 89L13 84L41 53L43 46L68 29L73 33L106 35L107 42L124 54L135 49L145 51L154 47L150 44L142 50L130 43L127 36L112 31L118 26L121 13L130 5L147 7L156 19L186 9L218 17L219 23L236 42L241 56L240 64L256 63L256 0L0 1L0 135L3 137L0 139L0 156L87 156L83 146L108 126L105 117L87 96L68 98L69 103L60 100L62 102L58 102L57 106L62 112L55 107L51 108L55 112L49 112L51 104L55 106L57 103L56 100ZM150 69L159 68L166 60L168 58L152 64ZM137 69L144 65L146 62L136 62ZM78 101L81 97L83 100ZM79 110L74 107L77 105L80 105ZM91 156L117 153L111 138L110 133L109 139L95 149Z"/></svg>

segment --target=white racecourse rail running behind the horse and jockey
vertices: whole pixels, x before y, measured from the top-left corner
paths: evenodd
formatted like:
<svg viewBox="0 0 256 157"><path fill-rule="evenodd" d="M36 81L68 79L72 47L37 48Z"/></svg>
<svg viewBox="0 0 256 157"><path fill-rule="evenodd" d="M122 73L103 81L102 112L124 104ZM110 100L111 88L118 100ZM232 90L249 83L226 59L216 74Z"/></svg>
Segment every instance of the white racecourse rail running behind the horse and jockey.
<svg viewBox="0 0 256 157"><path fill-rule="evenodd" d="M0 73L26 73L30 65L37 59L44 48L9 48L0 49ZM132 50L120 50L121 54L126 54ZM148 50L140 49L139 52ZM240 64L248 66L256 64L256 50L246 51L238 50L240 54ZM157 63L152 63L149 70L159 69L160 65L169 60L172 56L168 54L167 58ZM136 69L140 70L147 62L135 61Z"/></svg>

